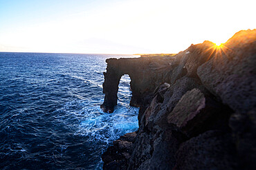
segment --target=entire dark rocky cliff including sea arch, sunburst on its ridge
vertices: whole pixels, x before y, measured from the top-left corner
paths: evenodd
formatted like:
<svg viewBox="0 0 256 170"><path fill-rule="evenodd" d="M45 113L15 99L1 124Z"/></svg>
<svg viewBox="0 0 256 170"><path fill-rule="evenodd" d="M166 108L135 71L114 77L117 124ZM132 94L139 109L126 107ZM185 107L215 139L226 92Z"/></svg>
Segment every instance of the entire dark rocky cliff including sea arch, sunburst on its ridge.
<svg viewBox="0 0 256 170"><path fill-rule="evenodd" d="M107 59L106 112L131 78L139 129L102 154L103 169L256 169L256 30L173 55Z"/></svg>

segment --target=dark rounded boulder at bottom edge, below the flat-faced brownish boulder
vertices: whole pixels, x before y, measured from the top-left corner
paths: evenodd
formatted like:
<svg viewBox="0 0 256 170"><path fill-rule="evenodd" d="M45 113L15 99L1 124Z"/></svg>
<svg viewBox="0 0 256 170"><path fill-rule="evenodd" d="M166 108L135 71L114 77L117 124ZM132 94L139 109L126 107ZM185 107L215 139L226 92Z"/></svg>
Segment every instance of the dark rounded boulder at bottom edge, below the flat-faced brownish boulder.
<svg viewBox="0 0 256 170"><path fill-rule="evenodd" d="M181 144L176 152L174 169L234 169L237 166L235 146L230 143L230 134L206 131Z"/></svg>

